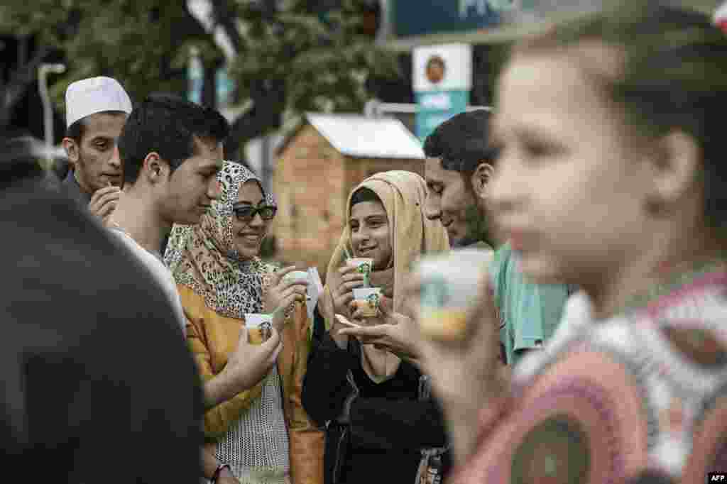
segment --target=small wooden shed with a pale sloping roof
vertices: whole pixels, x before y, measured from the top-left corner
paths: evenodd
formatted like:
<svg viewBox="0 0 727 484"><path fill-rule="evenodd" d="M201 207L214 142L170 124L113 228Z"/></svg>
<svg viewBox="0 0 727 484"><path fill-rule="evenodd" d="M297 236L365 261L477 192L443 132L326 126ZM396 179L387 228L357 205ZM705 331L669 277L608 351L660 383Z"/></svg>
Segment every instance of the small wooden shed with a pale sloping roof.
<svg viewBox="0 0 727 484"><path fill-rule="evenodd" d="M366 177L388 170L424 174L424 153L396 119L308 114L281 145L273 175L276 259L300 267L328 262L345 226L345 203Z"/></svg>

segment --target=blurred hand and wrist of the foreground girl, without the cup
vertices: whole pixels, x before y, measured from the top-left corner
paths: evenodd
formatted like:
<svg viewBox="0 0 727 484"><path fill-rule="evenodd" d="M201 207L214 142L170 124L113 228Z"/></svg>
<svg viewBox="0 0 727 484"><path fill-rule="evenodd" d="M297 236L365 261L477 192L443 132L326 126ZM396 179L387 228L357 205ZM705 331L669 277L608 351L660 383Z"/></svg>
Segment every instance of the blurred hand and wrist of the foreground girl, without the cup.
<svg viewBox="0 0 727 484"><path fill-rule="evenodd" d="M419 316L419 280L407 288L409 310ZM443 403L459 461L474 451L478 417L498 398L507 395L499 363L499 319L489 278L483 275L475 304L467 310L467 334L462 341L443 342L422 337L418 349L422 369L432 379L432 389Z"/></svg>

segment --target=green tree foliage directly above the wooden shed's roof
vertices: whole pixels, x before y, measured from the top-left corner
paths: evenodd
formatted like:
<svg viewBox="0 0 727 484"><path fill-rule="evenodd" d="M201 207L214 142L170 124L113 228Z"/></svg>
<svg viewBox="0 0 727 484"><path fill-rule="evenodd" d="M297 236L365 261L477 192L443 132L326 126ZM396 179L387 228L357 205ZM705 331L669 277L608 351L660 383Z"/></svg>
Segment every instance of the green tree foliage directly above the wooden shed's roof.
<svg viewBox="0 0 727 484"><path fill-rule="evenodd" d="M370 94L366 79L398 75L395 56L366 35L368 4L342 0L337 7L287 1L275 15L239 1L241 55L231 66L243 97L260 80L284 86L286 110L360 112ZM319 2L320 3L320 2Z"/></svg>

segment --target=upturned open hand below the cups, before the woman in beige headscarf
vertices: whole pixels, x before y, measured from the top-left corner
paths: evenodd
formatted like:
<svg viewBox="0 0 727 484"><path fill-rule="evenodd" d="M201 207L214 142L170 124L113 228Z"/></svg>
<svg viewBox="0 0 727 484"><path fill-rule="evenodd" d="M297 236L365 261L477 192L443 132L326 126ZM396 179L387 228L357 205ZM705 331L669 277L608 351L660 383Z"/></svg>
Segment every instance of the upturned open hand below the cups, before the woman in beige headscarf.
<svg viewBox="0 0 727 484"><path fill-rule="evenodd" d="M393 312L390 304L379 305L379 315L364 318L361 310L351 307L353 320L362 321L359 328L342 328L343 336L355 336L362 344L373 344L377 349L392 352L399 358L414 360L419 355L419 328L417 323L398 312Z"/></svg>

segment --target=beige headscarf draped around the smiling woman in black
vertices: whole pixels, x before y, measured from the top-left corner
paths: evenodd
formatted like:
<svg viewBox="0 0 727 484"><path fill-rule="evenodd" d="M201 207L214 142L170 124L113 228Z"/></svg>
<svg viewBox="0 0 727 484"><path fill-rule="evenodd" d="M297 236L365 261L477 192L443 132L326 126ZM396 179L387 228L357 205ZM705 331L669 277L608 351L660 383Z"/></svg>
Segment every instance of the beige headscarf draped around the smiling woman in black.
<svg viewBox="0 0 727 484"><path fill-rule="evenodd" d="M345 262L344 247L353 254L351 248L350 219L351 197L359 188L366 187L374 191L384 205L386 211L393 254L393 310L404 311L403 287L404 280L411 263L421 254L449 250L449 239L446 231L438 220L429 220L424 216L427 187L422 177L414 172L392 171L372 175L354 188L348 195L346 203L346 226L338 246L329 262L326 282L334 281L340 276L338 268ZM372 275L375 280L375 273ZM386 291L385 291L386 292ZM329 322L333 318L333 299L326 285L321 297L319 310ZM363 347L362 363L364 370L372 381L380 383L390 379L398 369L398 357L385 350L377 350L370 344Z"/></svg>

